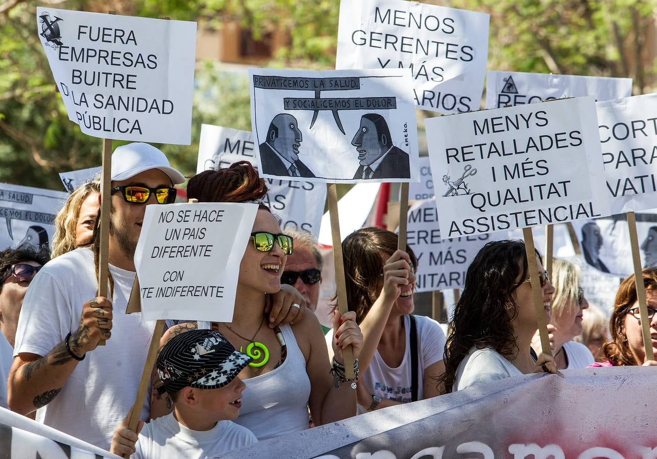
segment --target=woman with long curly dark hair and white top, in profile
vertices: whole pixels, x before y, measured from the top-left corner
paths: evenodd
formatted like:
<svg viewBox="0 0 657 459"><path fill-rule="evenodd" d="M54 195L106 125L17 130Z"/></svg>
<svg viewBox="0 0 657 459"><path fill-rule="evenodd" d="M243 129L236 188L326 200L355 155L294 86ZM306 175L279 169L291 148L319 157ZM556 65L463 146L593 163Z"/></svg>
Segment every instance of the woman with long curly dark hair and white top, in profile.
<svg viewBox="0 0 657 459"><path fill-rule="evenodd" d="M536 257L545 320L550 322L555 288L538 252ZM477 253L454 310L454 332L445 345L445 373L440 382L447 392L521 374L558 374L552 357L532 355L537 322L529 280L524 242L489 242Z"/></svg>

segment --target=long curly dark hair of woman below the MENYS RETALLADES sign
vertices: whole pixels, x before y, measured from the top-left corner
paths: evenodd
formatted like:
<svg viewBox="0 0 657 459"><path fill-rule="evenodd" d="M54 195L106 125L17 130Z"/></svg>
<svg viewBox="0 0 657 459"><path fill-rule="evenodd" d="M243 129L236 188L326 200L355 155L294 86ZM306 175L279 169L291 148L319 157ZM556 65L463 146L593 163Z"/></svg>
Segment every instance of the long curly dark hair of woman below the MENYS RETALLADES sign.
<svg viewBox="0 0 657 459"><path fill-rule="evenodd" d="M536 256L541 259L540 253ZM486 244L468 267L461 299L445 344L445 373L438 378L445 393L453 390L459 364L472 347L491 347L501 355L518 352L512 321L518 315L513 292L527 278L529 268L521 240ZM520 276L520 281L516 279Z"/></svg>

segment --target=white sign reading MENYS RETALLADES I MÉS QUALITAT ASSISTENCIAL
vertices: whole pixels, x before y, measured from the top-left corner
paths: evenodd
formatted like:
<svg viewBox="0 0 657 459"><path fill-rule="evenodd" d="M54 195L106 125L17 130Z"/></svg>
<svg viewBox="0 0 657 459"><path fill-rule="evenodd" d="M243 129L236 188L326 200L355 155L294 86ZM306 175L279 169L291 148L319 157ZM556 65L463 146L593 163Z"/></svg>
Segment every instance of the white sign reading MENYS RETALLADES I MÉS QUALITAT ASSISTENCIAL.
<svg viewBox="0 0 657 459"><path fill-rule="evenodd" d="M443 238L608 215L593 97L426 120Z"/></svg>

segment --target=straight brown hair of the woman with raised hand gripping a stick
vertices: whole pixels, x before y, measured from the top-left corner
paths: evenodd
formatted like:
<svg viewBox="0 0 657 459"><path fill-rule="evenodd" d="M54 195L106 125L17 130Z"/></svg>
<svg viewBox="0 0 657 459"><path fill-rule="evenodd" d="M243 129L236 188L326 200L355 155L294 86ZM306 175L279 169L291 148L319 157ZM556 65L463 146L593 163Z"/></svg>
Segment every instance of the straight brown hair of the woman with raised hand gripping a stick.
<svg viewBox="0 0 657 459"><path fill-rule="evenodd" d="M370 227L354 231L342 241L347 305L350 311L355 311L358 324L381 294L386 258L397 250L398 239L392 231ZM413 250L406 246L406 251L411 257L411 267L417 266Z"/></svg>

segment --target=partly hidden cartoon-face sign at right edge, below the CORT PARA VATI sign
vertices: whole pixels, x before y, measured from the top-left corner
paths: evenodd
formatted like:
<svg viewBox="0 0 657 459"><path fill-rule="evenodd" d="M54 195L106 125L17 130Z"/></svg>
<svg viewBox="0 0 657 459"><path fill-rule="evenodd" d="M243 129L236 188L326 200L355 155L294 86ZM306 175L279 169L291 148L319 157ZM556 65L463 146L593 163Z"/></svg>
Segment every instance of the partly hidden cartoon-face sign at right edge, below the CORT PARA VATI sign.
<svg viewBox="0 0 657 459"><path fill-rule="evenodd" d="M657 267L657 213L635 215L641 266ZM627 277L634 273L629 245L627 217L624 213L602 219L573 223L581 253L589 266L602 273Z"/></svg>

